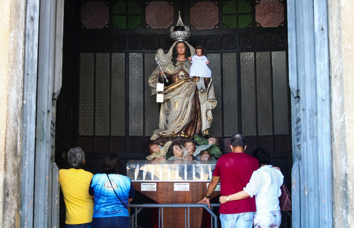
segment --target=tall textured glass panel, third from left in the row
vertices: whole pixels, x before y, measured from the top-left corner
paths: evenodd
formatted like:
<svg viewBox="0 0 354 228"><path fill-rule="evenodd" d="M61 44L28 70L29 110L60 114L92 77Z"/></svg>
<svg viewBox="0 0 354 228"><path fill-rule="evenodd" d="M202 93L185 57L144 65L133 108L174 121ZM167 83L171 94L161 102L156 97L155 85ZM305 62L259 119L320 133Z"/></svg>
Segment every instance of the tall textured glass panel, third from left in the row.
<svg viewBox="0 0 354 228"><path fill-rule="evenodd" d="M112 53L111 135L125 135L125 54Z"/></svg>

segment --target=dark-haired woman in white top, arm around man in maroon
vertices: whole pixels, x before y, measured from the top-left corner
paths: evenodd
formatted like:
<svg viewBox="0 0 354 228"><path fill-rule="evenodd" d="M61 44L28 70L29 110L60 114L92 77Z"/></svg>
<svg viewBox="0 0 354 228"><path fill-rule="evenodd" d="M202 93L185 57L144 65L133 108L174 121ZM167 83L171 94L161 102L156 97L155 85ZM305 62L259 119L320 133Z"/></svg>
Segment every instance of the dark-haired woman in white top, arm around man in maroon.
<svg viewBox="0 0 354 228"><path fill-rule="evenodd" d="M284 176L279 170L268 165L267 150L257 148L253 151L253 157L258 159L260 168L253 172L243 191L230 196L221 196L219 201L223 204L255 196L257 211L254 214L254 227L277 228L282 220L278 198L281 195L280 186L283 184Z"/></svg>

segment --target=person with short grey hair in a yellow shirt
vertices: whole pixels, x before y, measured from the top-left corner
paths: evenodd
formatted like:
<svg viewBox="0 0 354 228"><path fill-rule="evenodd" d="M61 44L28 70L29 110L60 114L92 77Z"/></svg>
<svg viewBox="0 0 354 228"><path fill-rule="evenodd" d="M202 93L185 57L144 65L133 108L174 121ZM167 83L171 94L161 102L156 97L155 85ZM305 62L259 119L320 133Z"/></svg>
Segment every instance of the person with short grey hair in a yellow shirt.
<svg viewBox="0 0 354 228"><path fill-rule="evenodd" d="M94 202L89 195L89 186L93 174L81 169L84 153L80 147L69 150L68 162L72 168L59 170L59 182L66 206L65 226L83 224L82 227L91 227Z"/></svg>

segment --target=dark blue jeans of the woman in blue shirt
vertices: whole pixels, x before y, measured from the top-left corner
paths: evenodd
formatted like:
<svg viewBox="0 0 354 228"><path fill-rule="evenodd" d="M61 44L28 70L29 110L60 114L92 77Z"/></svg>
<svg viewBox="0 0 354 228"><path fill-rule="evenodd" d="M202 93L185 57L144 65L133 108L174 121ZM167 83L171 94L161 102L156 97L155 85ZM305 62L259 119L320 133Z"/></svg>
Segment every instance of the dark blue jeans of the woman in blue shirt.
<svg viewBox="0 0 354 228"><path fill-rule="evenodd" d="M116 216L93 218L92 228L130 228L130 217Z"/></svg>

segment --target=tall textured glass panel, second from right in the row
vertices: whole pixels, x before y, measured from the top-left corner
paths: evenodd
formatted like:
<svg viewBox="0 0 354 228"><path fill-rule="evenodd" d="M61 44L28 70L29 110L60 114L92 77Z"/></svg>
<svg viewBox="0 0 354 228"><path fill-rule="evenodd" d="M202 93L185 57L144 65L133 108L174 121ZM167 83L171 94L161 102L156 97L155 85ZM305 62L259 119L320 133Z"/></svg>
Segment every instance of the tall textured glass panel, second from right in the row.
<svg viewBox="0 0 354 228"><path fill-rule="evenodd" d="M272 81L270 52L256 53L258 135L272 135Z"/></svg>

